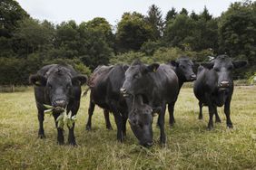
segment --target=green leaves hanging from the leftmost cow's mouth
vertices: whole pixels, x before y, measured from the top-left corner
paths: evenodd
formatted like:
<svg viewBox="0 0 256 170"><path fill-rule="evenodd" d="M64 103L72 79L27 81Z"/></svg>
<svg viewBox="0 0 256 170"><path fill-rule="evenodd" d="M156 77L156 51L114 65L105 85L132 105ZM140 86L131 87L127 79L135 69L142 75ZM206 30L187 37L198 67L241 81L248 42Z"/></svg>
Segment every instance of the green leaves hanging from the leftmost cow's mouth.
<svg viewBox="0 0 256 170"><path fill-rule="evenodd" d="M45 105L44 104L44 114L49 114L50 116L54 114L54 107L50 105ZM73 127L73 123L76 121L76 116L72 116L71 111L66 113L66 109L63 109L63 112L60 114L60 116L56 119L58 122L58 127L64 128L64 125L67 127L71 128Z"/></svg>

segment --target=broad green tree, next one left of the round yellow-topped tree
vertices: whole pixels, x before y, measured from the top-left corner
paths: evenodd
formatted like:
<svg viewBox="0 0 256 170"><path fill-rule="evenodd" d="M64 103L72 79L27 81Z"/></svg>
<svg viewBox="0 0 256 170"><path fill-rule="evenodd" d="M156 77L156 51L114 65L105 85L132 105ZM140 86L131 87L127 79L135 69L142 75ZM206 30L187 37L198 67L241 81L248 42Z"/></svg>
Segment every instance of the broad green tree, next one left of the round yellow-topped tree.
<svg viewBox="0 0 256 170"><path fill-rule="evenodd" d="M90 69L98 65L107 64L113 56L113 33L111 25L103 18L79 25L79 58Z"/></svg>

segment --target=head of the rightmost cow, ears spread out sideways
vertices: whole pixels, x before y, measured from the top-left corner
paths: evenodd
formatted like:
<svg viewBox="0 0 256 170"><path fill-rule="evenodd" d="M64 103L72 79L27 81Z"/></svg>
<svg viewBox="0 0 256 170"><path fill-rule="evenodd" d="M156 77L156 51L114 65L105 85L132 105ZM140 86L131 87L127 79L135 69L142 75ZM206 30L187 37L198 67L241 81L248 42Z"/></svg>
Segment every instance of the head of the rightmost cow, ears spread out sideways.
<svg viewBox="0 0 256 170"><path fill-rule="evenodd" d="M232 86L232 71L241 68L247 64L247 61L231 61L227 55L219 55L211 62L202 63L217 74L217 85L219 90L225 90Z"/></svg>

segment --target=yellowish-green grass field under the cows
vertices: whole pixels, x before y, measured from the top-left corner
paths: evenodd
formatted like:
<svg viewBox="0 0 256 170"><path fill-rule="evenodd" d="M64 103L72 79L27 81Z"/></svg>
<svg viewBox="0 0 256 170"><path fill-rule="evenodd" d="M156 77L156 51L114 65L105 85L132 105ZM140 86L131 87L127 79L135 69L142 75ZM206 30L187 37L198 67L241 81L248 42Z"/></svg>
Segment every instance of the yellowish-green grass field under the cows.
<svg viewBox="0 0 256 170"><path fill-rule="evenodd" d="M208 109L198 120L198 101L185 88L175 106L176 125L165 131L167 145L158 144L159 129L153 122L156 144L138 146L127 124L123 144L116 141L116 127L105 128L102 109L95 109L93 129L85 131L88 96L81 101L75 136L78 146L58 146L54 118L45 116L46 138L37 138L38 121L32 89L0 93L0 169L256 169L256 87L236 87L231 101L228 129L222 109L221 124L206 129ZM65 139L67 130L65 130ZM66 140L65 140L66 141Z"/></svg>

